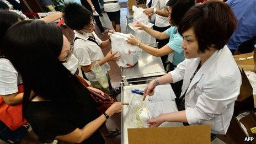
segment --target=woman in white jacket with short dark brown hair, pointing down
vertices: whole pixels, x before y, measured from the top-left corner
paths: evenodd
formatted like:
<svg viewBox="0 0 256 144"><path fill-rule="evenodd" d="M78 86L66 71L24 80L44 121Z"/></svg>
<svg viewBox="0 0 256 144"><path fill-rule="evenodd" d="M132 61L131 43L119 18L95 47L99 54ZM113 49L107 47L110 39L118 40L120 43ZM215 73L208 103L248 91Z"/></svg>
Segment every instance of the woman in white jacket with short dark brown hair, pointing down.
<svg viewBox="0 0 256 144"><path fill-rule="evenodd" d="M178 100L180 111L160 114L148 124L210 124L213 135L226 134L242 83L239 68L226 46L236 24L232 10L223 2L207 1L190 8L178 28L184 38L186 59L145 88L145 95L152 95L158 84L183 79L182 97Z"/></svg>

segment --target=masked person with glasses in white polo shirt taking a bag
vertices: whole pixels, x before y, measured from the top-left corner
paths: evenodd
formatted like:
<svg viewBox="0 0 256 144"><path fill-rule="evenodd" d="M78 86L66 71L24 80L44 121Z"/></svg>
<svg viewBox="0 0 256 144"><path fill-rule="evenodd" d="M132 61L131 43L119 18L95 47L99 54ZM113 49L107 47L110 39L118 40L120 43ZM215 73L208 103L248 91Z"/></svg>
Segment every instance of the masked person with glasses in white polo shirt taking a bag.
<svg viewBox="0 0 256 144"><path fill-rule="evenodd" d="M113 95L120 93L120 88L113 88L110 83L108 71L109 61L118 61L120 56L112 54L111 50L104 57L102 49L111 45L110 39L102 41L94 33L95 25L93 23L93 15L89 10L78 3L67 3L63 9L63 18L65 23L74 30L74 50L73 54L77 57L84 74L94 88L102 90L104 93ZM113 30L110 30L113 33ZM95 77L95 73L91 70L93 64L97 62L102 71L108 77L109 87L104 88Z"/></svg>

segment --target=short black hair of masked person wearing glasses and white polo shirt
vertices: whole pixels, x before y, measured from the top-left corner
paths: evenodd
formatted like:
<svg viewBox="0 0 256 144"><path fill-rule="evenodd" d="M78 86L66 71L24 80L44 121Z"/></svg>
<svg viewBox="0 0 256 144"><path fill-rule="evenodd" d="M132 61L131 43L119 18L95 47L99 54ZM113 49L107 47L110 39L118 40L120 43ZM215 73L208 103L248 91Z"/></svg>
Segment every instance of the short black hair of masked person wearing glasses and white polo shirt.
<svg viewBox="0 0 256 144"><path fill-rule="evenodd" d="M74 30L81 30L89 25L93 17L92 12L78 3L66 3L62 13L66 25Z"/></svg>

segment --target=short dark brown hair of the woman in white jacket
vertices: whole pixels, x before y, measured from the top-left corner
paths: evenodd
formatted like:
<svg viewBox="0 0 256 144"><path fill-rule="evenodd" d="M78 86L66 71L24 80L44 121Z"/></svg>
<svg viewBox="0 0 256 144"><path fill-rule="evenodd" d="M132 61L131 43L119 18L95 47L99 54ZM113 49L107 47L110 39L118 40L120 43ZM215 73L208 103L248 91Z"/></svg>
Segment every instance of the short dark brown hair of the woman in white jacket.
<svg viewBox="0 0 256 144"><path fill-rule="evenodd" d="M225 2L207 1L192 7L184 15L178 31L182 35L193 29L199 52L205 52L212 45L216 50L222 49L236 29L236 24L232 9Z"/></svg>

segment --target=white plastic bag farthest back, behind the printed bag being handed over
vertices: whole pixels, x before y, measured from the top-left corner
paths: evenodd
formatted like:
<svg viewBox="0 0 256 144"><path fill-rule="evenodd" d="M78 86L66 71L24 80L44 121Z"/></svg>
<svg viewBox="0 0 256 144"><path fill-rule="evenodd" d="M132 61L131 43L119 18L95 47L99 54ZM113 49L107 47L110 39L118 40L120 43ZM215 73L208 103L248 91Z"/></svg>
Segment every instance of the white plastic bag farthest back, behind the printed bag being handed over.
<svg viewBox="0 0 256 144"><path fill-rule="evenodd" d="M132 28L137 22L140 22L147 26L148 28L152 28L154 24L150 23L150 19L148 19L147 15L143 13L143 8L137 8L132 6L132 10L134 11L134 22L130 23L129 26ZM156 43L156 39L150 34L146 33L144 30L133 29L135 31L136 38L141 41L143 44L154 44Z"/></svg>

